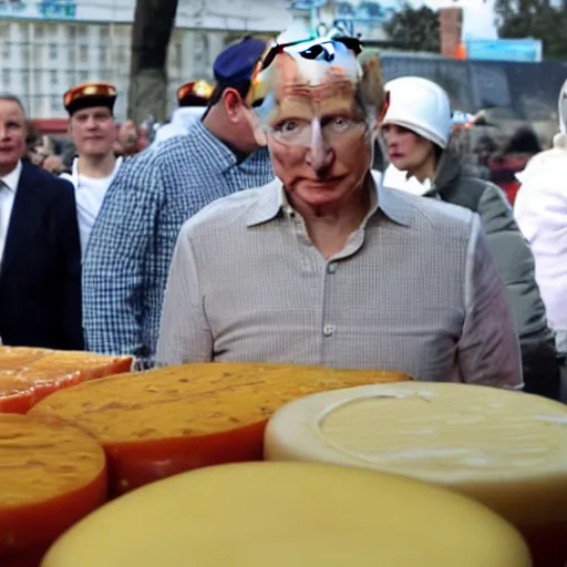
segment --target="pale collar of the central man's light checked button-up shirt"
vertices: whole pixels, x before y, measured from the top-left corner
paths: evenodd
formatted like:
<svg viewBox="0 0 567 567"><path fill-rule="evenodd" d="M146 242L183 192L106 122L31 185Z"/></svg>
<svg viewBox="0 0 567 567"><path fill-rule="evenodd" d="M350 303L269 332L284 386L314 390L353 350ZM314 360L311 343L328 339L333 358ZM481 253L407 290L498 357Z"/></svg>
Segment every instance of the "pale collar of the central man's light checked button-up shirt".
<svg viewBox="0 0 567 567"><path fill-rule="evenodd" d="M390 220L410 226L413 216L412 208L405 200L396 195L395 190L386 189L382 185L382 176L379 172L371 172L372 186L377 198L368 214L367 219L373 217L378 212L383 213ZM289 209L289 210L287 210ZM286 197L286 190L280 179L276 178L259 192L255 206L249 210L246 219L247 226L257 226L274 220L280 212L291 213L291 207Z"/></svg>

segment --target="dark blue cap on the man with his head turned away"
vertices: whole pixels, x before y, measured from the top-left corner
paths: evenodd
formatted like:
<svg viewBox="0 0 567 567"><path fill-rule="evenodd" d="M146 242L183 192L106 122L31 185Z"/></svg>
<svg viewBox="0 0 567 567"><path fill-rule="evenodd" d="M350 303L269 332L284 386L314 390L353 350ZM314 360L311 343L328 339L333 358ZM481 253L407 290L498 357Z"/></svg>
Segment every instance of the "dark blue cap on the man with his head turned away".
<svg viewBox="0 0 567 567"><path fill-rule="evenodd" d="M249 81L265 49L266 42L250 37L229 45L213 64L213 73L217 83L234 85Z"/></svg>

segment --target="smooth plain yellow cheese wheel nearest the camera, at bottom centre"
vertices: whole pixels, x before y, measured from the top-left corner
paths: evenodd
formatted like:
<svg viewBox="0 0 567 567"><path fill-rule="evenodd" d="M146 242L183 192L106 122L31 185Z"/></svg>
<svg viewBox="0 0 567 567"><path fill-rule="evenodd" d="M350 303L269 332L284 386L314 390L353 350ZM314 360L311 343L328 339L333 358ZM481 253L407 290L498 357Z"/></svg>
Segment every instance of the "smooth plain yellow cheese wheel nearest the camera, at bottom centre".
<svg viewBox="0 0 567 567"><path fill-rule="evenodd" d="M408 478L241 463L156 482L63 535L41 567L528 567L480 504Z"/></svg>

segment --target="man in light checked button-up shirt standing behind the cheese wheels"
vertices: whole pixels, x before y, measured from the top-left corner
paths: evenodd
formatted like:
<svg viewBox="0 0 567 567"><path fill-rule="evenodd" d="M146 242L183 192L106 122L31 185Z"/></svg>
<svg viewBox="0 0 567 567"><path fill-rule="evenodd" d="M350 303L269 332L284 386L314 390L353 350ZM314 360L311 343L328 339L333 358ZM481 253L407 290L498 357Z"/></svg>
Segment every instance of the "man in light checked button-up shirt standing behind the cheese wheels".
<svg viewBox="0 0 567 567"><path fill-rule="evenodd" d="M379 61L361 66L352 38L280 42L248 101L264 100L250 120L277 178L183 227L158 362L373 368L522 388L477 215L386 189L370 172L385 103Z"/></svg>

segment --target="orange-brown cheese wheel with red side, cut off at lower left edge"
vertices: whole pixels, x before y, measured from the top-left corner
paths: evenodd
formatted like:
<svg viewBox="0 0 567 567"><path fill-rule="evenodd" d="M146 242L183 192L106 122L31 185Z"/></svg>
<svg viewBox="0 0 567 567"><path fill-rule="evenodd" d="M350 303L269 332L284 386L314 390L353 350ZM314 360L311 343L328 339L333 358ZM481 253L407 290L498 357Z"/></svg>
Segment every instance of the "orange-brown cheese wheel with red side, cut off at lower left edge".
<svg viewBox="0 0 567 567"><path fill-rule="evenodd" d="M0 565L25 564L106 499L102 447L53 420L0 414Z"/></svg>

